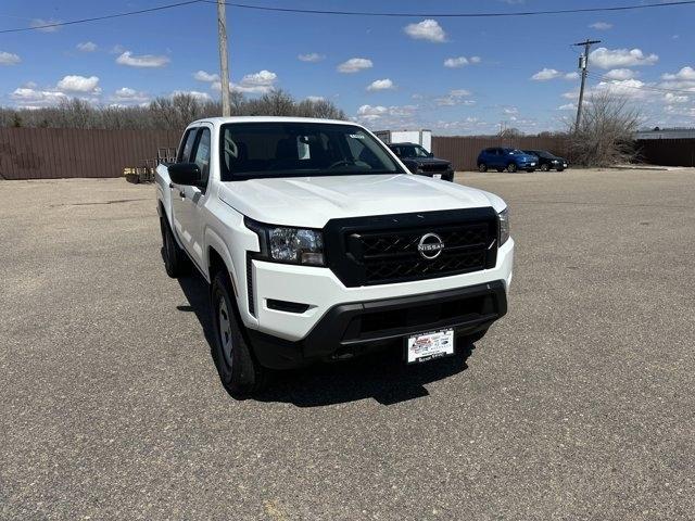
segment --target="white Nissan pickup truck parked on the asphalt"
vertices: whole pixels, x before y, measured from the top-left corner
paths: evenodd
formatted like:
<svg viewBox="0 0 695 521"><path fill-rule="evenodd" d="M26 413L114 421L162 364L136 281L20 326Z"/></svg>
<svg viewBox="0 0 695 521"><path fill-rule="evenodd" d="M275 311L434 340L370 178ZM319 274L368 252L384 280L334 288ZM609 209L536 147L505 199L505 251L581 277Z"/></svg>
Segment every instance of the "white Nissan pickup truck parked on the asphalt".
<svg viewBox="0 0 695 521"><path fill-rule="evenodd" d="M452 355L507 310L504 201L409 174L354 123L194 122L156 193L166 271L192 263L210 283L235 396L268 369L389 346L409 364Z"/></svg>

